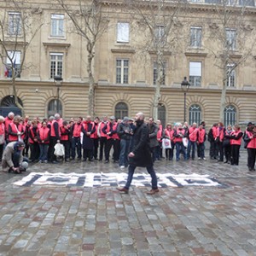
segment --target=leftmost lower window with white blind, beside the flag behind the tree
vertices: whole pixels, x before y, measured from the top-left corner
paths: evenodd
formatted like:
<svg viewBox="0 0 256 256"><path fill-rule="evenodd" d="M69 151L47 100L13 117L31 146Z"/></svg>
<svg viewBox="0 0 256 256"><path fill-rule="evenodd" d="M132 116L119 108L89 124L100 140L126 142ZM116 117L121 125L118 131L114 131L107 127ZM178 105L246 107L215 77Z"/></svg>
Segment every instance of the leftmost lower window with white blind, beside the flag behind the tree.
<svg viewBox="0 0 256 256"><path fill-rule="evenodd" d="M4 71L4 76L6 78L20 78L20 51L8 51L7 52L8 57L6 59L6 66L5 66L5 71ZM13 75L13 70L12 67L14 68L15 74Z"/></svg>

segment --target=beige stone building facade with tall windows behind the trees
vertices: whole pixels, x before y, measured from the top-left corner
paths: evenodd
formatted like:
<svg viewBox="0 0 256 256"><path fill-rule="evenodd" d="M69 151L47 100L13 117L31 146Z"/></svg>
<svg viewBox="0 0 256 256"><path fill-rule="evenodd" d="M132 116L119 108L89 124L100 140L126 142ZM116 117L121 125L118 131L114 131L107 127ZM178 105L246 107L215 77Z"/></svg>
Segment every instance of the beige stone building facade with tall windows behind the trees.
<svg viewBox="0 0 256 256"><path fill-rule="evenodd" d="M158 78L157 53L154 48L146 47L145 41L149 39L141 32L144 26L125 1L100 2L102 11L108 13L108 28L96 42L93 61L95 114L123 118L142 111L149 117L153 111ZM76 1L69 3L73 9L78 9ZM217 3L220 2L189 1L179 8L178 20L174 24L178 31L173 38L175 48L168 47L162 57L165 75L160 87L158 118L164 124L183 121L183 77L187 77L190 83L185 102L186 120L190 124L204 120L209 126L219 120L224 77L216 61L222 56L219 53L222 46L212 39L212 33L216 33L222 23L217 15ZM23 40L21 36L16 37L22 9L15 9L4 1L0 4L1 18L5 15L7 24L4 26L5 38L1 38L3 43L0 44L3 56L0 105L5 115L10 109L15 109L12 70L9 67L11 61L15 62L15 72L19 72L21 66L22 47L14 44L14 37L17 38L15 42ZM242 26L234 24L224 28L234 63L239 63L236 68L233 68L234 63L227 63L230 75L225 81L225 125L256 120L256 48L253 38L241 44L238 34L241 27L243 32L255 34L254 4L254 1L236 1L236 6L230 8L237 9L237 13L247 5ZM44 118L59 112L64 119L87 115L89 76L86 40L75 32L72 20L60 4L45 1L38 8L37 1L33 1L27 6L32 14L29 18L32 27L39 29L33 38L27 35L26 41L32 40L26 49L24 68L15 79L24 113ZM144 3L142 8L147 9L147 4ZM173 7L169 8L171 14ZM164 27L157 24L160 35ZM3 44L11 61L4 53ZM241 47L250 49L250 52L243 52ZM61 76L61 83L55 82L55 76Z"/></svg>

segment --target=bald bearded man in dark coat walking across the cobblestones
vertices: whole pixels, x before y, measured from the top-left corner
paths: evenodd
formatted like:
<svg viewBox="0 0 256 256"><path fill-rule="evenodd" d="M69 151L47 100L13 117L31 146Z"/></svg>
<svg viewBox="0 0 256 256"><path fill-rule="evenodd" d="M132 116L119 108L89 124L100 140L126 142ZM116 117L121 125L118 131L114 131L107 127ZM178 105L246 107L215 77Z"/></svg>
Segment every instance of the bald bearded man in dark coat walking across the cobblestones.
<svg viewBox="0 0 256 256"><path fill-rule="evenodd" d="M128 168L128 178L124 188L117 188L120 192L127 194L129 192L131 181L137 166L146 167L151 176L152 189L148 191L148 195L154 195L159 192L157 186L157 177L154 172L153 161L150 155L149 131L148 125L144 123L144 114L137 113L135 116L136 130L134 132L134 144L131 152L128 154L130 165Z"/></svg>

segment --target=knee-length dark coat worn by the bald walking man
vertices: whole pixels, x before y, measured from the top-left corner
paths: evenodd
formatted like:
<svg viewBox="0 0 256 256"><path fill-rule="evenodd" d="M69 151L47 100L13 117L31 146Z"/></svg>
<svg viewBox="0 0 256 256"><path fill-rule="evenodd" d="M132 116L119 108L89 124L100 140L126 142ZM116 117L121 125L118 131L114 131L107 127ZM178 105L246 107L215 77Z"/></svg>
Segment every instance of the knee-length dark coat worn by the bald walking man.
<svg viewBox="0 0 256 256"><path fill-rule="evenodd" d="M153 166L150 148L149 148L149 137L148 137L148 125L141 124L137 126L137 129L133 135L133 147L131 152L135 154L134 157L129 158L131 166Z"/></svg>

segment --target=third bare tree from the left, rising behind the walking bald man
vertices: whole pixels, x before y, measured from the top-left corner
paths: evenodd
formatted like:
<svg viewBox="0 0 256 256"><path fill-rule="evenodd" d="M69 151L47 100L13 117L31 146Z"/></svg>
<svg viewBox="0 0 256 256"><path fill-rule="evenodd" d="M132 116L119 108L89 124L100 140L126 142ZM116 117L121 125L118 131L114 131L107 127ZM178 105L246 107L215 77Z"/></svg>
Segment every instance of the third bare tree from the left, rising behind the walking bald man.
<svg viewBox="0 0 256 256"><path fill-rule="evenodd" d="M166 79L166 53L177 53L178 28L181 26L179 12L186 1L148 0L125 1L136 14L138 30L144 32L144 44L138 50L143 54L155 55L156 81L153 101L153 117L158 119L158 108L161 99L160 88Z"/></svg>

